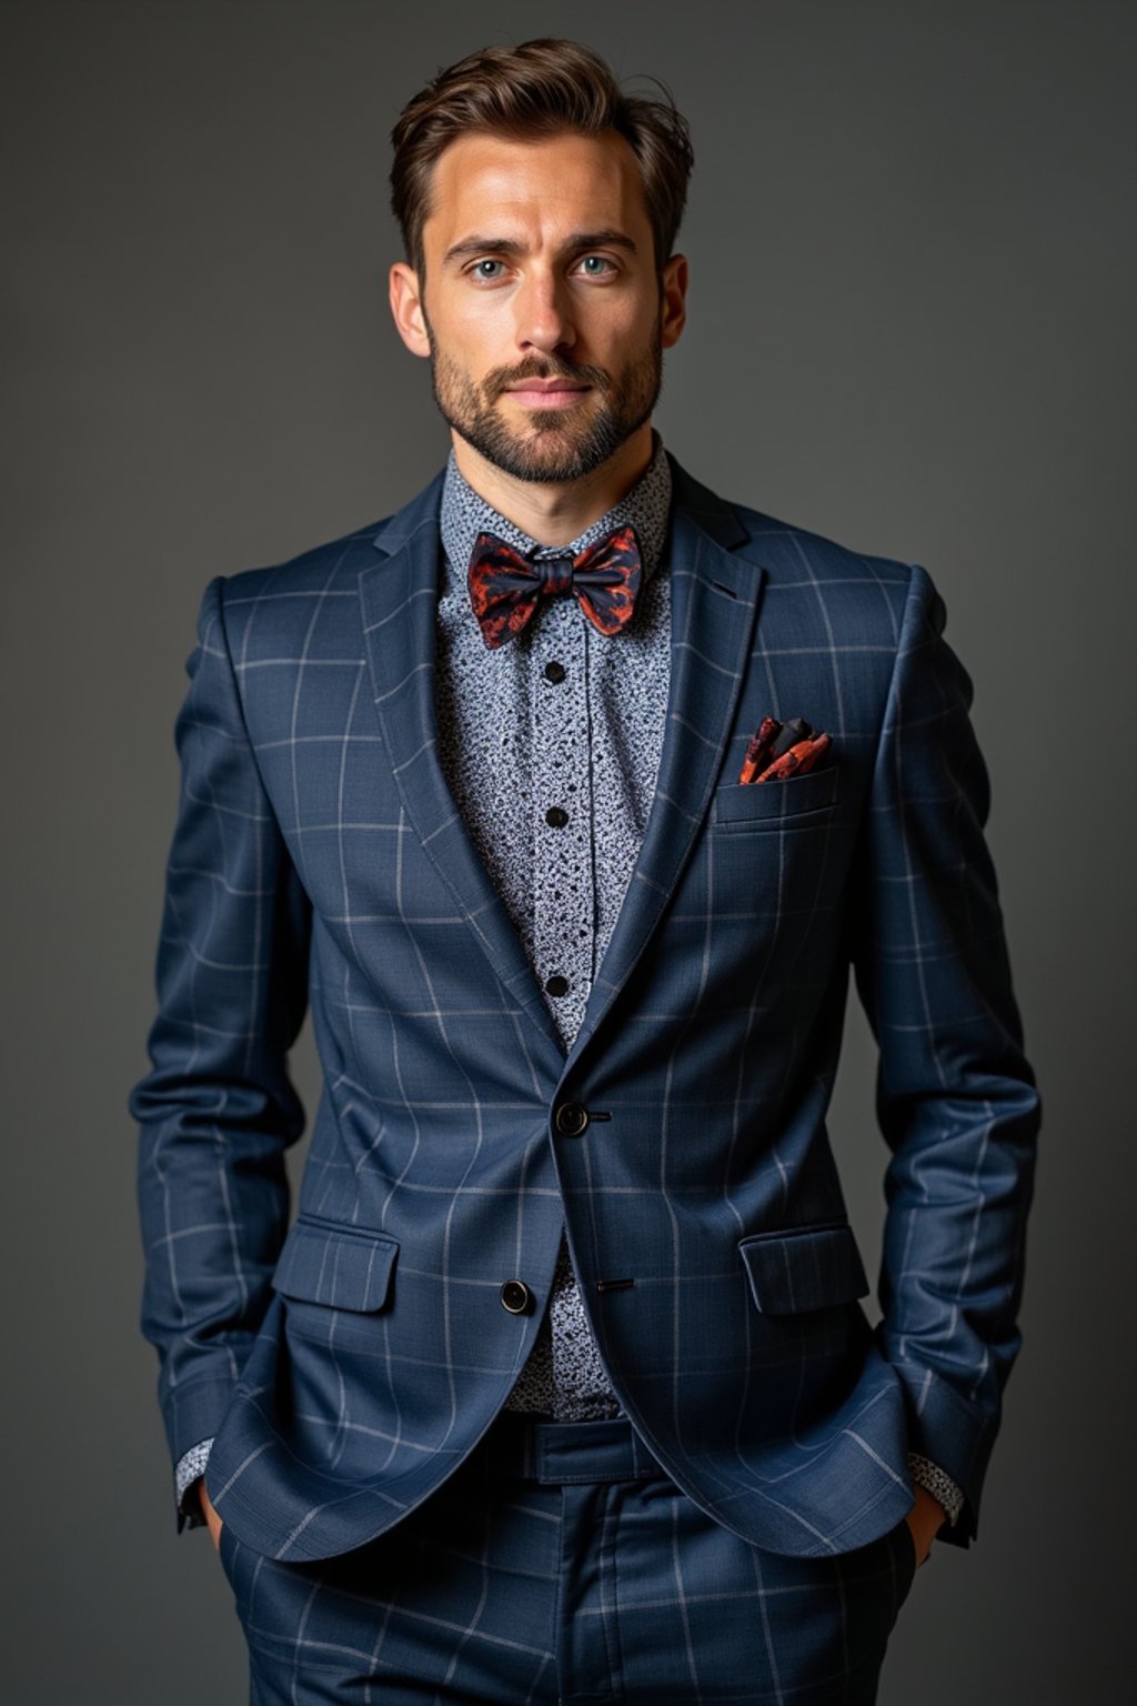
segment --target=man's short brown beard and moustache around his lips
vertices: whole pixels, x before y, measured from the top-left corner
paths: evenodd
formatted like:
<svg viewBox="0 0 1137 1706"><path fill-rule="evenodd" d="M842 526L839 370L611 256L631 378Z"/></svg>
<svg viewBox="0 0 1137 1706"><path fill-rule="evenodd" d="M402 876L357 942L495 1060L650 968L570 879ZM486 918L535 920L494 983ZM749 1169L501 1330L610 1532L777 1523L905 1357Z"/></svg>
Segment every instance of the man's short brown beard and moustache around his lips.
<svg viewBox="0 0 1137 1706"><path fill-rule="evenodd" d="M656 326L641 355L609 374L578 367L554 355L530 355L517 367L494 367L476 382L438 348L430 322L431 386L447 421L488 462L515 479L569 485L583 479L638 432L660 397L663 341ZM505 420L498 399L523 379L568 379L592 386L586 399L568 409L532 409L528 426Z"/></svg>

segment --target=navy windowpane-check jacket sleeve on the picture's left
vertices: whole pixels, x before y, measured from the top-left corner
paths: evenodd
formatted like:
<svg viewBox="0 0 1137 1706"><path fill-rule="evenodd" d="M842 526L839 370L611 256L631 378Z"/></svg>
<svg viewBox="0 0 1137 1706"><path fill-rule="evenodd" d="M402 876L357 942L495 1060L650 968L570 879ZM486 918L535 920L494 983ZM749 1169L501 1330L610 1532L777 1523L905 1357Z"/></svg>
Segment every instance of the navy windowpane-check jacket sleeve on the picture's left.
<svg viewBox="0 0 1137 1706"><path fill-rule="evenodd" d="M288 1049L310 908L264 793L206 589L177 720L182 783L159 947L152 1070L131 1095L147 1259L141 1331L177 1462L211 1436L268 1309L303 1128Z"/></svg>

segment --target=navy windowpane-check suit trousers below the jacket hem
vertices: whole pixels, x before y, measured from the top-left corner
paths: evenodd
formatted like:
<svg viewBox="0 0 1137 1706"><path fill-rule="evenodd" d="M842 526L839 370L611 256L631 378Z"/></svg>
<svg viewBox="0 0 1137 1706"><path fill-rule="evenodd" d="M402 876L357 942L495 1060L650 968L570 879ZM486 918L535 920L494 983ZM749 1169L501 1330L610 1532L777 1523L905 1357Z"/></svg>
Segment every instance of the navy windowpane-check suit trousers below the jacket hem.
<svg viewBox="0 0 1137 1706"><path fill-rule="evenodd" d="M907 1522L788 1558L711 1520L627 1421L501 1414L377 1541L276 1563L222 1530L252 1706L871 1706Z"/></svg>

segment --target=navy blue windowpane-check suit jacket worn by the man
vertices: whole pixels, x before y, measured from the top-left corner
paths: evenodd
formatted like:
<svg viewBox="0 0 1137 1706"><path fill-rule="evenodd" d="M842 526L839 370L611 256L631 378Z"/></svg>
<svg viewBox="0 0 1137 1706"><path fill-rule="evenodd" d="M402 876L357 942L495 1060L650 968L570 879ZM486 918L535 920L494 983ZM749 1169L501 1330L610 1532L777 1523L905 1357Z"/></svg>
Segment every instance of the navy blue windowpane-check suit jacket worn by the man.
<svg viewBox="0 0 1137 1706"><path fill-rule="evenodd" d="M563 1225L612 1387L716 1520L849 1551L910 1506L912 1448L967 1494L944 1537L975 1534L1038 1102L970 682L922 570L673 473L656 795L568 1058L438 764L442 481L206 590L133 1095L143 1329L174 1457L215 1436L210 1494L273 1558L363 1544L470 1452ZM825 768L740 786L767 713L828 730ZM851 967L890 1152L874 1327L825 1131Z"/></svg>

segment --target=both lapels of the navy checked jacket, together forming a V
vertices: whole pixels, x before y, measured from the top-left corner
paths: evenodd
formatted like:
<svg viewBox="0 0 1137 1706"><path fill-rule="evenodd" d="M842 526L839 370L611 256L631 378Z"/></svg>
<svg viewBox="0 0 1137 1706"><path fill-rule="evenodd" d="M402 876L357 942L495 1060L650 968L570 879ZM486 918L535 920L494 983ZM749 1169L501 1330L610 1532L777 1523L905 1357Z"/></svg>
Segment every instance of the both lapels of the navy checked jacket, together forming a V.
<svg viewBox="0 0 1137 1706"><path fill-rule="evenodd" d="M564 1058L513 921L469 838L436 751L435 611L442 474L377 534L360 577L375 710L402 807L479 949L552 1051L556 1075L600 1025L643 954L706 817L750 653L764 570L736 554L735 510L672 462L672 681L655 802L585 1018Z"/></svg>

